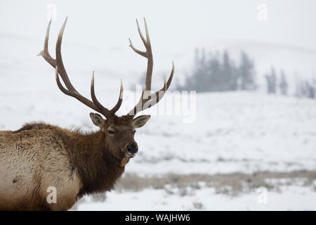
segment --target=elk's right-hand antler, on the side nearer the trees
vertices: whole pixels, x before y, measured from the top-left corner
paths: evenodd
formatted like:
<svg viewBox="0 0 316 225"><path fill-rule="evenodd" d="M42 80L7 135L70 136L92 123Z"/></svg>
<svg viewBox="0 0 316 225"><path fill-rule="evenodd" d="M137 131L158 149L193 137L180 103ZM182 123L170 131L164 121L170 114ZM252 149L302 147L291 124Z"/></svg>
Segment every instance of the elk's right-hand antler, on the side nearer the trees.
<svg viewBox="0 0 316 225"><path fill-rule="evenodd" d="M142 95L140 96L140 100L135 105L135 107L126 115L127 117L131 117L131 118L133 118L140 111L150 108L152 107L152 105L157 104L160 101L160 99L162 99L162 97L166 93L166 90L169 88L171 84L171 80L173 78L173 72L174 72L174 64L172 62L172 70L171 70L171 75L168 79L168 82L164 80L164 87L160 89L159 91L156 91L155 93L150 94L150 89L151 89L151 84L152 84L152 69L154 65L154 61L152 58L152 45L150 44L150 37L149 37L147 23L146 23L145 18L144 18L144 23L145 23L146 39L143 37L143 34L140 31L138 20L136 20L136 23L137 23L140 39L142 39L143 44L145 45L146 51L140 51L136 49L133 46L131 39L129 39L129 43L133 51L140 54L140 56L147 58L147 73L146 73L146 80L145 80L145 88L143 90Z"/></svg>

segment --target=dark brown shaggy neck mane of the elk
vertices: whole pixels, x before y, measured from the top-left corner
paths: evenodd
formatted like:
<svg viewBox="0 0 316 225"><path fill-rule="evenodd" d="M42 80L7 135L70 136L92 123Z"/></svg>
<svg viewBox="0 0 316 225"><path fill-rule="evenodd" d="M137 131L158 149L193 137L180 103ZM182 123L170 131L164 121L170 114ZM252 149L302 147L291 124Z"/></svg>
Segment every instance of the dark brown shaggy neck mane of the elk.
<svg viewBox="0 0 316 225"><path fill-rule="evenodd" d="M110 191L124 172L121 160L105 148L105 134L97 131L93 134L77 134L74 140L68 139L72 148L70 153L73 169L77 170L82 182L78 198L91 193ZM73 146L73 143L77 143ZM65 143L67 145L67 142Z"/></svg>

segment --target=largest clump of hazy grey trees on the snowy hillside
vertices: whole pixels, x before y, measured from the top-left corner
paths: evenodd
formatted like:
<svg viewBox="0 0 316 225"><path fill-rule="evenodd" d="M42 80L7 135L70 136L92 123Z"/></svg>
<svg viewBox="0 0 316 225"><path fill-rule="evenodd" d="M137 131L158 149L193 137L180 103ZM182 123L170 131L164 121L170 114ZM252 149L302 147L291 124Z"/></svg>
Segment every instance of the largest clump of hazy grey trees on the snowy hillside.
<svg viewBox="0 0 316 225"><path fill-rule="evenodd" d="M192 75L176 89L197 92L254 90L257 88L255 78L254 61L244 51L237 64L228 51L206 54L204 49L197 49Z"/></svg>

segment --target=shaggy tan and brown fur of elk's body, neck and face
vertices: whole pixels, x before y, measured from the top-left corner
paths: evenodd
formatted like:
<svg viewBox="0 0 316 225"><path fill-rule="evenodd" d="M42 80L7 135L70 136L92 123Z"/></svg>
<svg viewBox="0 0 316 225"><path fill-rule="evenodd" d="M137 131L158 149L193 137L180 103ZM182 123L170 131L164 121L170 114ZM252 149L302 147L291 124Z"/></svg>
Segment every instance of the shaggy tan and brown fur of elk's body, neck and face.
<svg viewBox="0 0 316 225"><path fill-rule="evenodd" d="M85 194L110 191L129 162L134 128L133 120L116 117L91 134L44 123L1 131L0 210L68 210ZM50 186L57 203L46 200Z"/></svg>

